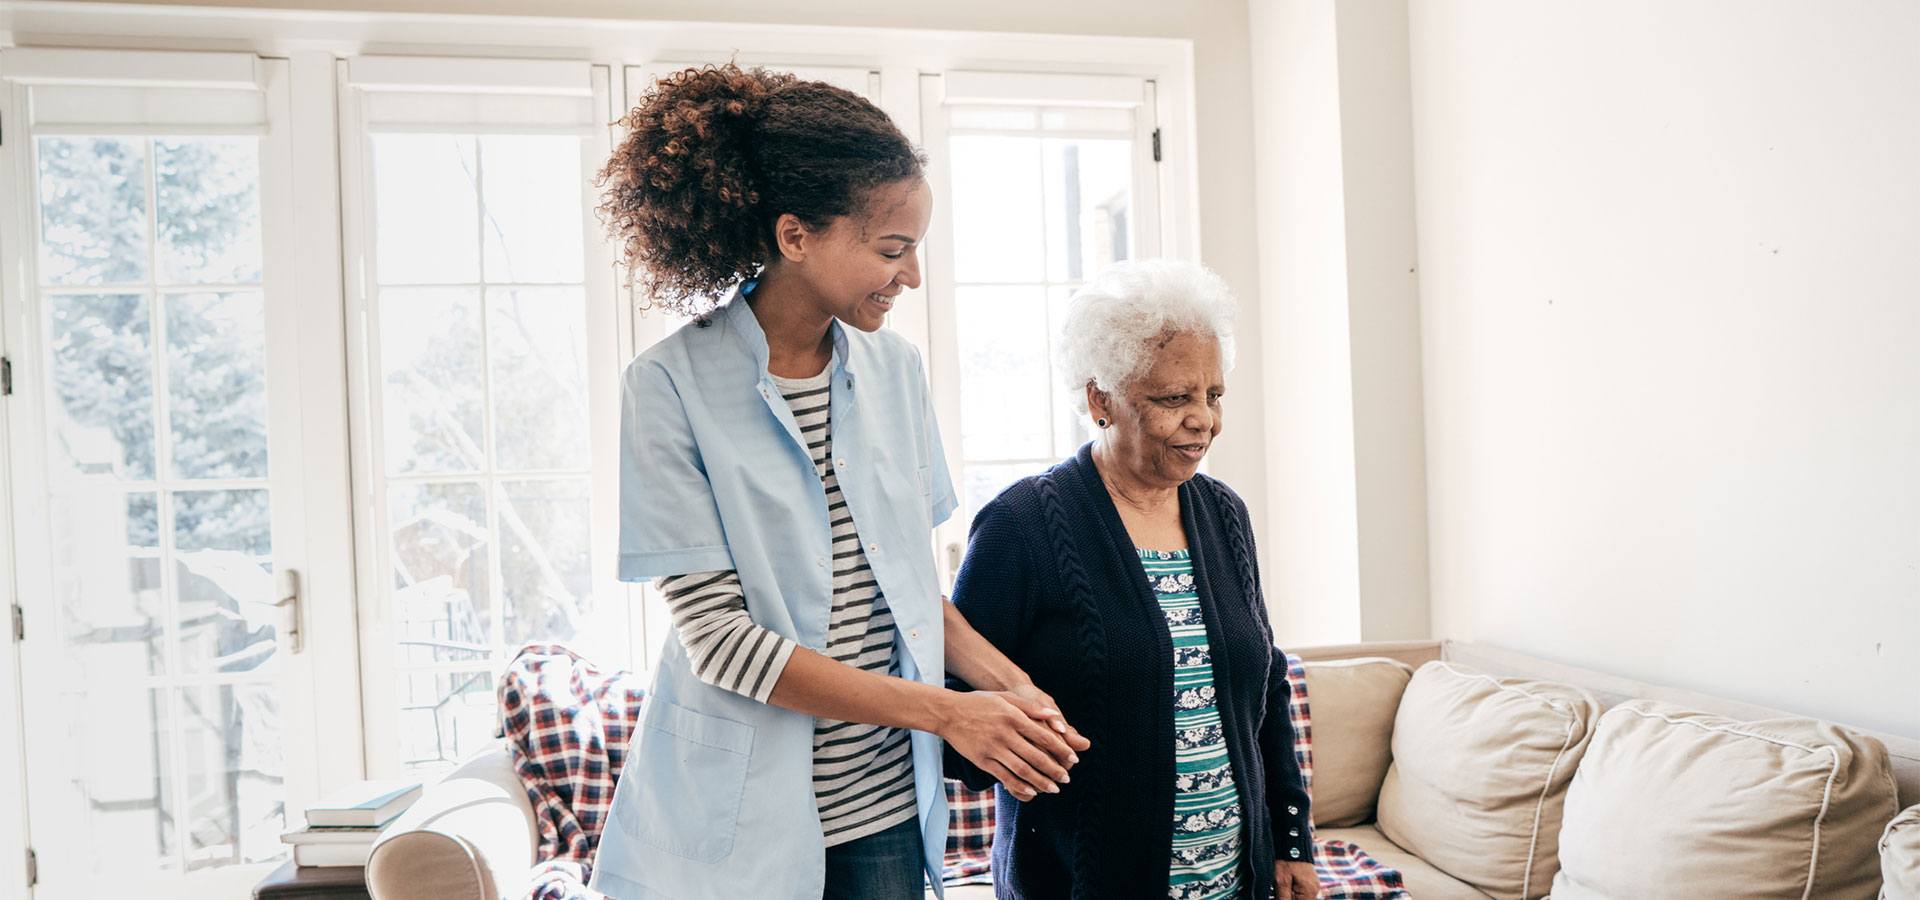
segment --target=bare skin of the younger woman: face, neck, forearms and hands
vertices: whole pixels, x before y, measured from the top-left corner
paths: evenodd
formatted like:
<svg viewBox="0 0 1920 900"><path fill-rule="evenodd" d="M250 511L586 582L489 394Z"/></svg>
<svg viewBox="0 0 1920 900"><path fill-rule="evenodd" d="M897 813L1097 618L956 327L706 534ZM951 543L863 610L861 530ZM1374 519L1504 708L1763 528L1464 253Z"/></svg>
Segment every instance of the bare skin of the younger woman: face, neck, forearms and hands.
<svg viewBox="0 0 1920 900"><path fill-rule="evenodd" d="M866 215L812 228L795 215L774 223L780 257L760 272L747 303L766 332L768 372L810 378L833 359L829 324L879 330L900 292L920 286L920 240L933 196L920 178L881 184ZM947 668L979 687L947 691L877 675L804 647L793 651L768 702L808 716L941 735L1021 800L1060 793L1075 750L1091 746L1058 704L1033 687L966 618L943 603Z"/></svg>

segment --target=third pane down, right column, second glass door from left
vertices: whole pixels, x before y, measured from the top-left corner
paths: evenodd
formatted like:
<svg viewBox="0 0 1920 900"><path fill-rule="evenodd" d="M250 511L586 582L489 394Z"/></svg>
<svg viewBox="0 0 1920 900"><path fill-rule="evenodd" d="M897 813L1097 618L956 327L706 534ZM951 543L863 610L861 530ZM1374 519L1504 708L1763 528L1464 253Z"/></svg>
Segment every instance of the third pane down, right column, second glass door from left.
<svg viewBox="0 0 1920 900"><path fill-rule="evenodd" d="M507 647L593 639L588 480L507 482L499 499Z"/></svg>

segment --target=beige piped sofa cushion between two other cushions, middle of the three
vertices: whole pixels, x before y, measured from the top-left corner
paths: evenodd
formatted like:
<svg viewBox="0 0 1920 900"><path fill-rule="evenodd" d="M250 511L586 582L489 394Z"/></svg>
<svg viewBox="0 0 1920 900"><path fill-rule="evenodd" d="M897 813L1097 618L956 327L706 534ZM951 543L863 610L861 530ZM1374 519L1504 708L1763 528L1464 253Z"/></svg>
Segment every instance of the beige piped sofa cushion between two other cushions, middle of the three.
<svg viewBox="0 0 1920 900"><path fill-rule="evenodd" d="M1567 783L1597 716L1572 685L1421 666L1394 718L1380 833L1500 900L1544 896Z"/></svg>

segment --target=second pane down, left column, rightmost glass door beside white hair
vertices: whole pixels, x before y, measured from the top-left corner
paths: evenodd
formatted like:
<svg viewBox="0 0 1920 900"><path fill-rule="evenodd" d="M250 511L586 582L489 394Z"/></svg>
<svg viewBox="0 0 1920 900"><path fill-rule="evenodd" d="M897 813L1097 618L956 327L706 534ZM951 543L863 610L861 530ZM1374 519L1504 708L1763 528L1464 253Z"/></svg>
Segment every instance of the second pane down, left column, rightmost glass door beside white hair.
<svg viewBox="0 0 1920 900"><path fill-rule="evenodd" d="M970 461L1052 455L1054 386L1043 288L960 288L960 453Z"/></svg>

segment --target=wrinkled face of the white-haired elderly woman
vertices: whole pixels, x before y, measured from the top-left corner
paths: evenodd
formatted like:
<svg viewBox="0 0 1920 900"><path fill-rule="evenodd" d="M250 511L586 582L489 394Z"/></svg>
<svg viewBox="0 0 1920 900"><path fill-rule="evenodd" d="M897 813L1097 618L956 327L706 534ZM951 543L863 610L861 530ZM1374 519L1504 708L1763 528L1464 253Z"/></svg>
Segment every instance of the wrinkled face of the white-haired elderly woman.
<svg viewBox="0 0 1920 900"><path fill-rule="evenodd" d="M1200 470L1221 430L1219 340L1210 334L1164 336L1152 367L1117 395L1089 388L1094 416L1112 420L1108 449L1127 472L1152 486L1173 487Z"/></svg>

